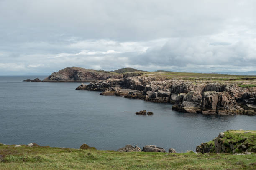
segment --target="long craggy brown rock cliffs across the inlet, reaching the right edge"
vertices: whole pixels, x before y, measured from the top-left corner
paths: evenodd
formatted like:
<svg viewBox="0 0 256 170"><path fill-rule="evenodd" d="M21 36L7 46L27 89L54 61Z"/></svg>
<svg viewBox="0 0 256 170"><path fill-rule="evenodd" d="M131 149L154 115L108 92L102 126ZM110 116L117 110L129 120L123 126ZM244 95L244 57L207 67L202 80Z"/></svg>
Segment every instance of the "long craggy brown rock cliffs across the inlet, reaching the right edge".
<svg viewBox="0 0 256 170"><path fill-rule="evenodd" d="M116 95L158 103L172 103L172 109L182 112L255 115L256 88L205 81L159 80L157 77L127 77L97 80L80 85L77 90L102 91L101 95Z"/></svg>

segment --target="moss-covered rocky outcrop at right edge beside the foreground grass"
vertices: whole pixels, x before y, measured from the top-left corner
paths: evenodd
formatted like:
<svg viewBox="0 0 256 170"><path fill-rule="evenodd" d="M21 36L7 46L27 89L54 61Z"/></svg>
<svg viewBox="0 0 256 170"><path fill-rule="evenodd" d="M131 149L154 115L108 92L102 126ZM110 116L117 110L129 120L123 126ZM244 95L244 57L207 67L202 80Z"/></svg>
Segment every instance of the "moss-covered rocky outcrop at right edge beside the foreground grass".
<svg viewBox="0 0 256 170"><path fill-rule="evenodd" d="M256 131L228 130L207 143L197 146L199 153L256 152Z"/></svg>

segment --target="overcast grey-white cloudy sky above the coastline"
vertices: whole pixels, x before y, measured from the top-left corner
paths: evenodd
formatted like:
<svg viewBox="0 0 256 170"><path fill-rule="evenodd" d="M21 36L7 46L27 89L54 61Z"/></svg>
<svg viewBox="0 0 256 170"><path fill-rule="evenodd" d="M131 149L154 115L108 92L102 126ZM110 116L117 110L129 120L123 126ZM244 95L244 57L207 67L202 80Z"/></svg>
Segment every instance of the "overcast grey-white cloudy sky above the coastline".
<svg viewBox="0 0 256 170"><path fill-rule="evenodd" d="M0 75L256 71L255 0L0 0Z"/></svg>

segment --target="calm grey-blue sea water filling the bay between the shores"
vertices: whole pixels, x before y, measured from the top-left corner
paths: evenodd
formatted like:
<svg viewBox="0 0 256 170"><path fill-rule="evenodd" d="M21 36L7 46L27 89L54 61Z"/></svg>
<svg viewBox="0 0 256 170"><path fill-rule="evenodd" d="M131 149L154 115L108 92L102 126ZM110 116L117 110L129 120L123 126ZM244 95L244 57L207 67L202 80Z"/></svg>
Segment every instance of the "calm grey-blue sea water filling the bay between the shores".
<svg viewBox="0 0 256 170"><path fill-rule="evenodd" d="M80 83L22 82L46 76L0 76L0 142L99 150L154 144L195 150L219 132L256 130L256 116L216 116L172 111L171 104L75 90ZM150 110L153 116L134 112Z"/></svg>

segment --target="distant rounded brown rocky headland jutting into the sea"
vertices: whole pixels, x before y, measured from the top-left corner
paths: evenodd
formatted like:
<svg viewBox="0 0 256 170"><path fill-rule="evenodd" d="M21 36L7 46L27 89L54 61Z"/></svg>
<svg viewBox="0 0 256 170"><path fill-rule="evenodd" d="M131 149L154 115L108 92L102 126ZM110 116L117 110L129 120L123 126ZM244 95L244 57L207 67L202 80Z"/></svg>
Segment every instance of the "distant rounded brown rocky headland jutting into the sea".
<svg viewBox="0 0 256 170"><path fill-rule="evenodd" d="M108 78L121 78L122 75L105 71L67 67L46 77L43 82L91 82Z"/></svg>

